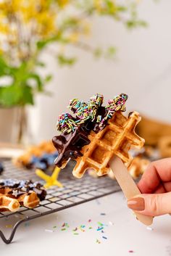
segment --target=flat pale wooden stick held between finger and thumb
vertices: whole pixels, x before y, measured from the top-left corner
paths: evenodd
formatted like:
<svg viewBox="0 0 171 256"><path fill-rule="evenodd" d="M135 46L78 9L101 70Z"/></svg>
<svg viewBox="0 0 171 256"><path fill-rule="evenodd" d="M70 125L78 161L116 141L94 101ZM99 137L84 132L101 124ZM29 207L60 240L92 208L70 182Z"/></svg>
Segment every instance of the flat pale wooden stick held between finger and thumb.
<svg viewBox="0 0 171 256"><path fill-rule="evenodd" d="M141 194L141 191L139 191L138 186L136 186L135 181L133 181L133 178L130 176L130 173L119 157L114 156L109 162L109 165L127 199L131 199L138 194ZM142 215L137 212L134 213L141 223L147 226L153 223L153 217Z"/></svg>

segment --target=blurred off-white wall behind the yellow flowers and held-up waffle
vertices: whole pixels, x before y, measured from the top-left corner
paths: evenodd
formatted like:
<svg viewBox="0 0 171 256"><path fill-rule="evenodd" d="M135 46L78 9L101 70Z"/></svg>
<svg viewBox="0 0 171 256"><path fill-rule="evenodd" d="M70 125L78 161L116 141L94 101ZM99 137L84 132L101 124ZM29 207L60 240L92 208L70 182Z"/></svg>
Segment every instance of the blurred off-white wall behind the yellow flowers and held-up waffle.
<svg viewBox="0 0 171 256"><path fill-rule="evenodd" d="M57 117L67 112L70 99L88 99L97 92L105 99L125 92L128 110L171 123L171 1L141 1L139 15L149 28L128 31L109 18L94 18L89 44L117 46L115 62L97 61L91 54L70 49L79 61L73 67L57 66L46 52L47 73L54 79L48 86L52 97L38 96L31 107L30 132L35 142L51 139L56 133Z"/></svg>

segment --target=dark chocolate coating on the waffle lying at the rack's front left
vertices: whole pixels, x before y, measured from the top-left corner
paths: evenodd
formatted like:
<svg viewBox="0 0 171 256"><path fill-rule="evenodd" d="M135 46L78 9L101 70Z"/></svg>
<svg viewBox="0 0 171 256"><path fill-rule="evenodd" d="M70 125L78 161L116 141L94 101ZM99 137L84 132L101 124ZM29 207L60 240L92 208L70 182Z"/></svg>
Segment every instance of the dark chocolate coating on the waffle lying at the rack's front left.
<svg viewBox="0 0 171 256"><path fill-rule="evenodd" d="M14 191L17 191L17 196L20 197L22 194L29 193L29 191L35 191L38 195L38 198L42 201L46 197L46 190L43 189L41 183L33 182L30 180L27 181L18 181L12 179L0 180L0 190L1 189L12 189L8 194L14 194ZM15 197L15 198L16 198Z"/></svg>

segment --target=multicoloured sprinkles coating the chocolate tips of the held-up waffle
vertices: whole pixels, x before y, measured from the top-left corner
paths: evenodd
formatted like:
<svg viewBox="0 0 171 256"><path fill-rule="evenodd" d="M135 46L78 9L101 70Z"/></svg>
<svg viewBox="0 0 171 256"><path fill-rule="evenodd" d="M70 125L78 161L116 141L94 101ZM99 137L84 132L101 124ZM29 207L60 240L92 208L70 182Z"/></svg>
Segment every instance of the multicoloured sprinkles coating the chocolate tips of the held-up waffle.
<svg viewBox="0 0 171 256"><path fill-rule="evenodd" d="M74 132L79 125L86 123L87 120L96 122L99 124L99 127L101 127L104 125L104 122L112 117L114 112L118 110L125 111L125 102L127 99L128 95L126 94L120 94L115 96L114 99L110 99L105 107L107 114L104 117L98 115L99 107L101 107L104 101L103 95L93 95L88 102L72 99L68 107L75 114L75 117L72 117L69 113L59 115L57 130L62 133L71 133Z"/></svg>

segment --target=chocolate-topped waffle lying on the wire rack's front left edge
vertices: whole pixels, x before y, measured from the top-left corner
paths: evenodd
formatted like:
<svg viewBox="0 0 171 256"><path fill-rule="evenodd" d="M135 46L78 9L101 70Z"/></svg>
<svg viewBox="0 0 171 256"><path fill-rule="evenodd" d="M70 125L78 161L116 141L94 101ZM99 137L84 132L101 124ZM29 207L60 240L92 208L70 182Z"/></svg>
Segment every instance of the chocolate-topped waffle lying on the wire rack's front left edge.
<svg viewBox="0 0 171 256"><path fill-rule="evenodd" d="M40 183L10 179L0 181L0 212L16 212L22 205L34 208L45 197L46 191Z"/></svg>

